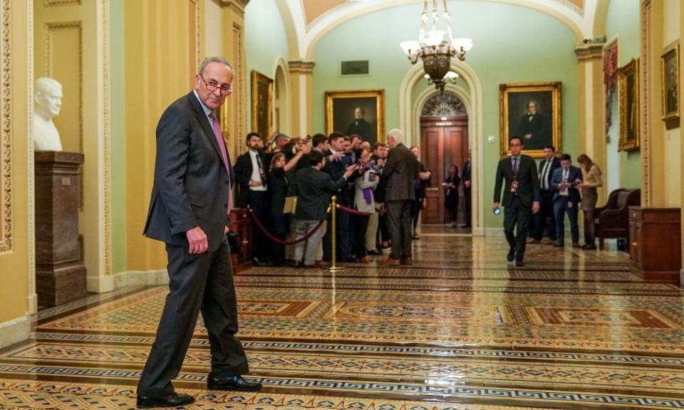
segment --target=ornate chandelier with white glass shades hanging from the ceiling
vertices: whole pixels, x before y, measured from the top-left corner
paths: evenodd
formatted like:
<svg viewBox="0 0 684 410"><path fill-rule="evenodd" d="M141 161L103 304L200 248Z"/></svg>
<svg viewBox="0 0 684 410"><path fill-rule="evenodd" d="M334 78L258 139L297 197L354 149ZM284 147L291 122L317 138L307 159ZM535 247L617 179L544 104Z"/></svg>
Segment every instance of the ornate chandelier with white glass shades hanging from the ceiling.
<svg viewBox="0 0 684 410"><path fill-rule="evenodd" d="M429 2L430 0L425 0L418 41L402 41L399 46L406 53L411 64L417 63L418 58L423 60L425 78L430 84L434 84L440 93L444 93L445 85L456 83L458 78L458 74L450 70L451 58L457 57L460 61L464 61L465 53L472 48L472 40L453 38L447 0L442 0L441 18L437 9L437 0L432 0L432 30L426 31L425 26L430 20L427 13ZM442 19L446 26L445 30L439 29Z"/></svg>

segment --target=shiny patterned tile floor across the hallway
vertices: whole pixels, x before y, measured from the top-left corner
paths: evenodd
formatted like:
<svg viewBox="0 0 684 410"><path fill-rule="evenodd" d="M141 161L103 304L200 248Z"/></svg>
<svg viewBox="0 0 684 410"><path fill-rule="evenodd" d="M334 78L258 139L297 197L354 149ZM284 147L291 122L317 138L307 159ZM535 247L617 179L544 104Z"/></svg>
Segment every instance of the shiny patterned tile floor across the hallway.
<svg viewBox="0 0 684 410"><path fill-rule="evenodd" d="M254 268L236 276L258 394L209 391L201 322L188 409L684 408L684 293L617 251L424 236L415 266ZM42 311L0 352L0 409L133 409L165 287Z"/></svg>

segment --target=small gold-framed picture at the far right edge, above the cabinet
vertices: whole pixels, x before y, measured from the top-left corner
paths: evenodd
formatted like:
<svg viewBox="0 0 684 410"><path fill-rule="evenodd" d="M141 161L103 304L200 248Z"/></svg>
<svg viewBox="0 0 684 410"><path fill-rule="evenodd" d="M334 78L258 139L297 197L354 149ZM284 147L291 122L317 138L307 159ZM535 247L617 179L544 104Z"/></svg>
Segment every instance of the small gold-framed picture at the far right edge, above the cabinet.
<svg viewBox="0 0 684 410"><path fill-rule="evenodd" d="M663 96L665 128L679 127L679 41L665 48L660 56L660 95Z"/></svg>

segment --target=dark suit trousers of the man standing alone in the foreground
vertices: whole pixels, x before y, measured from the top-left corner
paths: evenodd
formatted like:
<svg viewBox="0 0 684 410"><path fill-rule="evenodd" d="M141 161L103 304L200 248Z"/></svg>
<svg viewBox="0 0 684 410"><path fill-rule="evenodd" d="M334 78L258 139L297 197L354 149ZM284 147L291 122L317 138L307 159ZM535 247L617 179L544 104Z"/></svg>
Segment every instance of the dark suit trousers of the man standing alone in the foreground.
<svg viewBox="0 0 684 410"><path fill-rule="evenodd" d="M141 396L164 396L185 359L197 315L202 311L209 333L212 374L230 377L249 372L242 343L235 337L237 299L228 242L214 252L191 254L167 244L169 290L157 337L138 383Z"/></svg>

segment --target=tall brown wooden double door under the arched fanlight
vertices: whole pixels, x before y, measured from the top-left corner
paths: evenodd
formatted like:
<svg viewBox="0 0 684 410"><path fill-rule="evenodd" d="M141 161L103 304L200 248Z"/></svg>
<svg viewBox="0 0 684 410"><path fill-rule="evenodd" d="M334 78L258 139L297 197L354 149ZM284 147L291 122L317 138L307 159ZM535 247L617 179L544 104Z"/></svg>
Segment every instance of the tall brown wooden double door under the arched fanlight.
<svg viewBox="0 0 684 410"><path fill-rule="evenodd" d="M442 185L452 165L458 167L461 176L468 159L468 117L420 117L420 152L423 163L432 172L427 188L423 224L446 224L450 222L445 207L445 187ZM465 197L463 184L458 189L457 223L465 224Z"/></svg>

